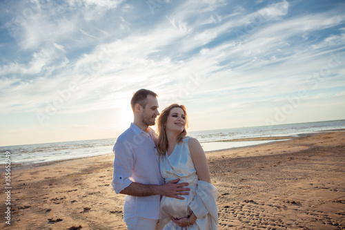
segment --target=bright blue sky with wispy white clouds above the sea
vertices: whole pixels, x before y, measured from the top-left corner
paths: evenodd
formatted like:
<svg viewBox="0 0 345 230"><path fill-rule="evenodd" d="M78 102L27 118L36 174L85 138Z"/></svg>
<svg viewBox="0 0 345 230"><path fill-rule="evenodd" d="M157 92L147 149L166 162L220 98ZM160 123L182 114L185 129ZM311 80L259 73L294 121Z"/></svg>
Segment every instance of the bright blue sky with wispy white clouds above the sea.
<svg viewBox="0 0 345 230"><path fill-rule="evenodd" d="M345 3L0 1L0 146L116 138L130 98L189 131L345 119Z"/></svg>

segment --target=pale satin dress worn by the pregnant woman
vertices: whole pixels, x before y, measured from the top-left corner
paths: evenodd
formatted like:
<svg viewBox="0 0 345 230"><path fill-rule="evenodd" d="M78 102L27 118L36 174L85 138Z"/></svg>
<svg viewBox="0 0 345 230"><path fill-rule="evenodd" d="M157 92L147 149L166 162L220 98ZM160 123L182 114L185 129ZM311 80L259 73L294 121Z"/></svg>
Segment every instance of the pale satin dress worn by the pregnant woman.
<svg viewBox="0 0 345 230"><path fill-rule="evenodd" d="M168 198L165 196L161 198L159 230L185 229L175 225L171 220L171 216L176 219L180 219L187 217L192 213L192 210L188 204L193 201L197 195L197 191L199 190L197 172L195 171L193 160L190 156L188 140L189 137L185 137L181 144L177 144L170 156L168 156L168 153L161 154L160 156L159 167L161 170L161 175L166 183L179 178L179 183L189 183L188 187L190 188L190 191L189 195L181 195L185 198L184 200ZM207 182L204 183L208 184ZM211 184L209 185L212 186ZM213 186L213 188L215 187ZM217 189L215 189L215 191L217 194ZM216 206L214 207L215 210L217 210L217 205L215 202L213 203L213 206ZM208 213L204 215L203 218L197 218L193 226L188 227L188 229L217 229L217 227L215 228L214 226L217 226L217 223L215 224L214 218L210 215L210 213Z"/></svg>

